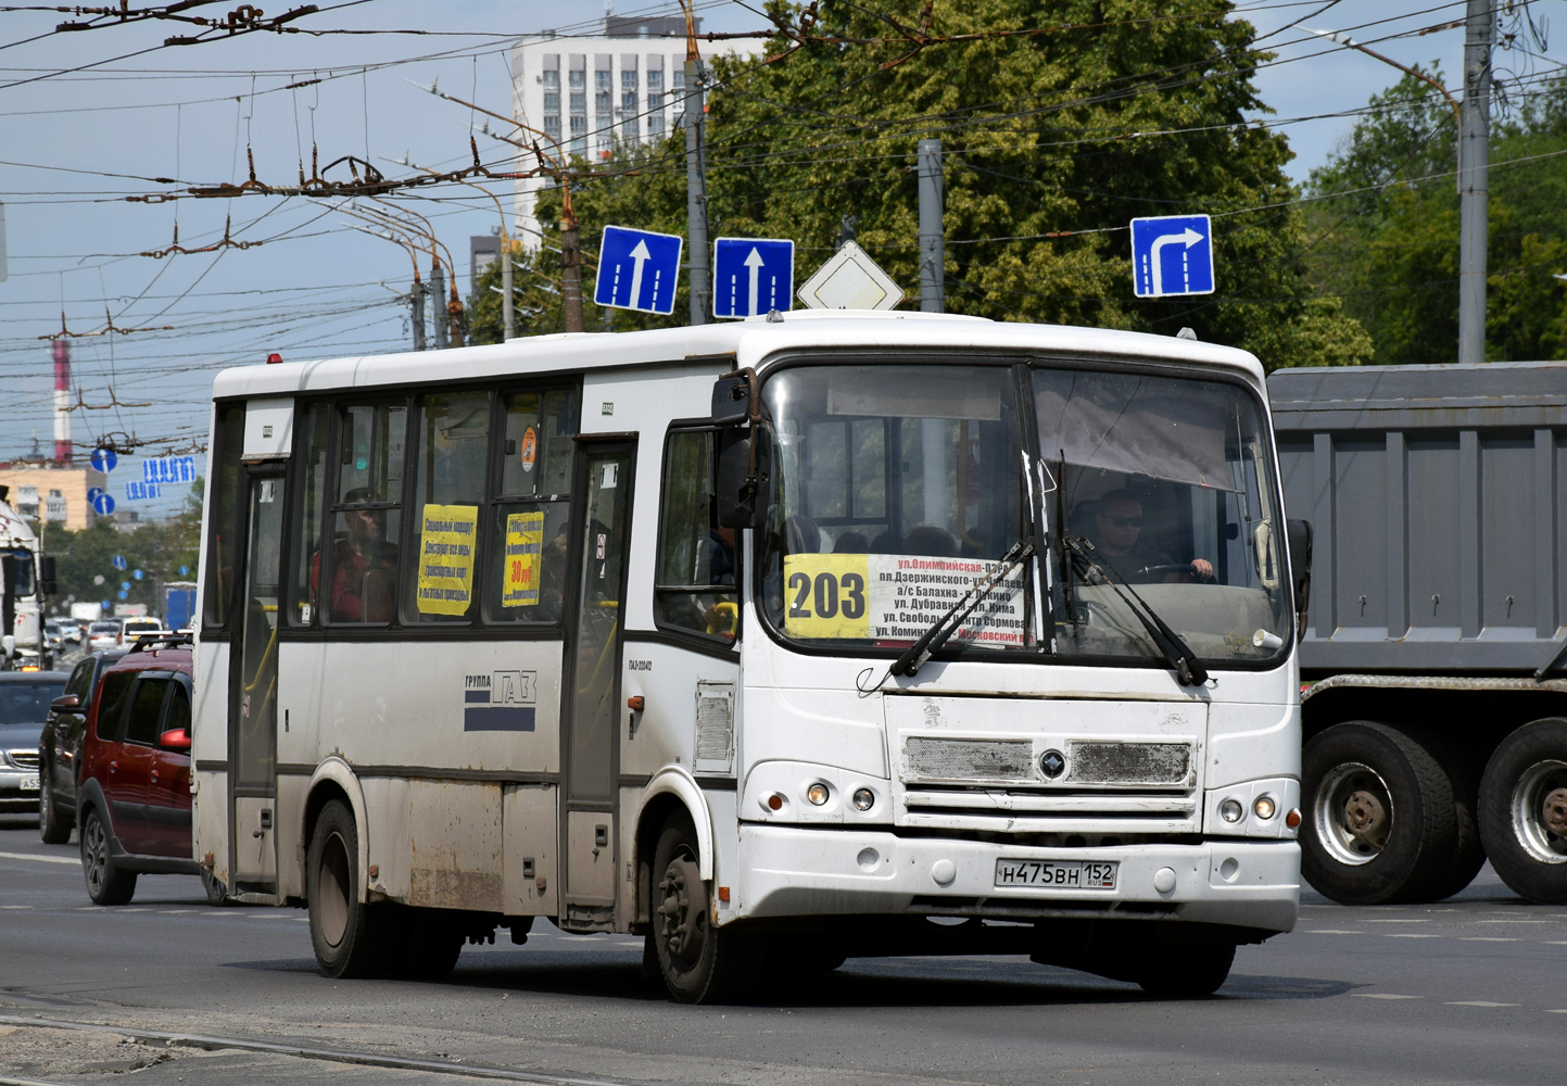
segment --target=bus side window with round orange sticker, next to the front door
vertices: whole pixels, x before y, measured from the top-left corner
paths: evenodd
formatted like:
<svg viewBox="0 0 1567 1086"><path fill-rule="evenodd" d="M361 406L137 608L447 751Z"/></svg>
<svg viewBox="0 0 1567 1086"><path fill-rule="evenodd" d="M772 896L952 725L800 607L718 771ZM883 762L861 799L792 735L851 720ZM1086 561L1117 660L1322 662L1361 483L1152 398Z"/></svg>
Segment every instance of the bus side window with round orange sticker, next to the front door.
<svg viewBox="0 0 1567 1086"><path fill-rule="evenodd" d="M559 622L570 533L577 390L501 398L500 472L486 516L489 622Z"/></svg>

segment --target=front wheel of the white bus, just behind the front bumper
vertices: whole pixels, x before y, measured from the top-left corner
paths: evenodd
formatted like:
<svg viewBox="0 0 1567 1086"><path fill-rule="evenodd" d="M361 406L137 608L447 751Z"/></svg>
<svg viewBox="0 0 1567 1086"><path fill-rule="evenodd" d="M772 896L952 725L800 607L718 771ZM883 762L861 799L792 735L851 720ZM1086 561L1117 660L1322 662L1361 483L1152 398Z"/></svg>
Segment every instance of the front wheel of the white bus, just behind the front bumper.
<svg viewBox="0 0 1567 1086"><path fill-rule="evenodd" d="M653 948L664 987L677 1003L722 1003L746 970L740 932L715 928L707 884L697 867L696 829L677 815L653 849Z"/></svg>

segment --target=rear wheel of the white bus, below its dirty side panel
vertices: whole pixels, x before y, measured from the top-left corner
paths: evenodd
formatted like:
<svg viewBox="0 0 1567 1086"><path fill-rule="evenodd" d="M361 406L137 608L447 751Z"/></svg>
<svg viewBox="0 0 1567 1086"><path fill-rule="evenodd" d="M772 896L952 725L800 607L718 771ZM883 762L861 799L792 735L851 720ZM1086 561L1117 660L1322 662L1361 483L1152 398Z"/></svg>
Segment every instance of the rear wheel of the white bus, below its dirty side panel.
<svg viewBox="0 0 1567 1086"><path fill-rule="evenodd" d="M348 805L321 809L306 857L310 943L328 976L379 976L385 972L387 918L359 900L359 831Z"/></svg>

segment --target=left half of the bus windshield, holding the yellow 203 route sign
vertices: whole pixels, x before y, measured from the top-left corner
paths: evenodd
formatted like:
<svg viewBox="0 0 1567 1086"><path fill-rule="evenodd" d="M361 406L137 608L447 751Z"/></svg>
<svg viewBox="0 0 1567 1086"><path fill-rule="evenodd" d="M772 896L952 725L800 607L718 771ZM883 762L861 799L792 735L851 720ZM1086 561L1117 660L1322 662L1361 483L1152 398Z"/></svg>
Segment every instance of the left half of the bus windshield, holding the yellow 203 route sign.
<svg viewBox="0 0 1567 1086"><path fill-rule="evenodd" d="M796 641L917 639L1023 534L1022 443L1008 367L799 367L768 379L774 497L765 608ZM953 644L1034 644L1025 569Z"/></svg>

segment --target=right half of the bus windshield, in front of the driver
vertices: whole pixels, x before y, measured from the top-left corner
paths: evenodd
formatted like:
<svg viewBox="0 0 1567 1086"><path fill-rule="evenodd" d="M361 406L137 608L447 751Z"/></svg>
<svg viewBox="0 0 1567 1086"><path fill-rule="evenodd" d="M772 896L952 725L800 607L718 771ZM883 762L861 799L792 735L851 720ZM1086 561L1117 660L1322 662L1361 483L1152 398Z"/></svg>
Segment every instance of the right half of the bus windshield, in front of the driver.
<svg viewBox="0 0 1567 1086"><path fill-rule="evenodd" d="M1202 660L1282 650L1283 520L1252 396L1216 381L1039 368L1034 411L1053 539L1083 544L1053 547L1059 653L1158 657L1131 610L1139 597Z"/></svg>

